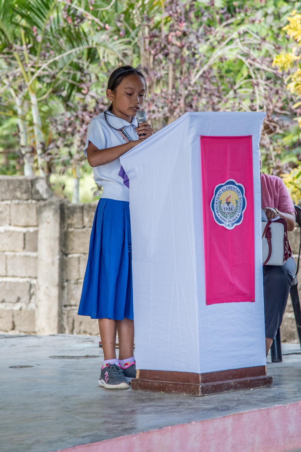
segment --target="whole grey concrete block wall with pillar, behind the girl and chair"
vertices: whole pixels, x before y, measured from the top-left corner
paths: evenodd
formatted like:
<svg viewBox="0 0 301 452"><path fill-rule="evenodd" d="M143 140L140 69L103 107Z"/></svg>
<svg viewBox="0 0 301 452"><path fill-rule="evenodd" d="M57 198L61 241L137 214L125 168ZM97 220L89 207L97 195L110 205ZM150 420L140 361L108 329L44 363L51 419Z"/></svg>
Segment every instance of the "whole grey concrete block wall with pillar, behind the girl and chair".
<svg viewBox="0 0 301 452"><path fill-rule="evenodd" d="M42 178L0 176L0 332L99 334L77 315L95 209L52 196ZM295 255L299 237L289 233ZM281 337L298 342L290 298Z"/></svg>

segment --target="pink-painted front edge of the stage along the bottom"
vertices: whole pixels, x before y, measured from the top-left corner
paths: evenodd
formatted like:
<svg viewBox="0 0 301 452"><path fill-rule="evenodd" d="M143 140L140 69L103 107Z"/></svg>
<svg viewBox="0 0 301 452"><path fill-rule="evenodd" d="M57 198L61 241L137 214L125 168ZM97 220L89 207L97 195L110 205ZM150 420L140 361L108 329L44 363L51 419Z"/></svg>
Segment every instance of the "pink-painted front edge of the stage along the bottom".
<svg viewBox="0 0 301 452"><path fill-rule="evenodd" d="M283 452L298 447L301 447L301 401L173 425L57 452Z"/></svg>

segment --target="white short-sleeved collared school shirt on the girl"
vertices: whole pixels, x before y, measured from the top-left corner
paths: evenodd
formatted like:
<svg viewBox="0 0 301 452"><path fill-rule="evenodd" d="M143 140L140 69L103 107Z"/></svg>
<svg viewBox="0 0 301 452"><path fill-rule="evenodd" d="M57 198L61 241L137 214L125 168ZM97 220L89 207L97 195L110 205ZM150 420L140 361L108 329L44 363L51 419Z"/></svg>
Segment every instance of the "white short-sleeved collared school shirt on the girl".
<svg viewBox="0 0 301 452"><path fill-rule="evenodd" d="M137 127L136 118L132 119L132 123L118 118L110 112L106 112L107 121L112 127L120 129L123 127L133 140L138 140L138 135L135 131ZM89 141L93 143L98 149L105 149L108 147L119 146L127 141L120 132L114 130L105 121L105 113L100 113L89 124L87 131L87 140L85 145L85 155L87 157L87 147ZM123 178L120 177L120 160L119 158L113 160L106 165L100 165L93 168L94 180L98 185L102 185L104 191L102 198L116 199L117 201L129 201L129 189L123 184Z"/></svg>

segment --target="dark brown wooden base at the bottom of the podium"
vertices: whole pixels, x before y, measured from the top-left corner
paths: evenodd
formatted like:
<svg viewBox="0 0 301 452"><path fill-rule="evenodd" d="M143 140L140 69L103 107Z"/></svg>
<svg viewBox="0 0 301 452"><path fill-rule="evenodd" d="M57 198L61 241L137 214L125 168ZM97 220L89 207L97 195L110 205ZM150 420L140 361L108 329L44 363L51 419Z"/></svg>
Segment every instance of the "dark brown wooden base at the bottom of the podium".
<svg viewBox="0 0 301 452"><path fill-rule="evenodd" d="M186 395L220 394L265 388L272 384L273 378L266 375L266 366L206 373L137 369L136 379L131 381L133 391Z"/></svg>

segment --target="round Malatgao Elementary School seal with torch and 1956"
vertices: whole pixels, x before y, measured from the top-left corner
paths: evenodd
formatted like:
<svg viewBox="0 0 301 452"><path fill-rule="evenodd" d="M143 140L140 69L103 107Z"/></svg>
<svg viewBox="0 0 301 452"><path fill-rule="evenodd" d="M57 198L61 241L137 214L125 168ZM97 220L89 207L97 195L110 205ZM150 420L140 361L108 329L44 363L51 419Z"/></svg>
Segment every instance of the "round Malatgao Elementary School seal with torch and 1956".
<svg viewBox="0 0 301 452"><path fill-rule="evenodd" d="M243 220L246 210L245 188L229 179L224 184L214 188L214 195L210 203L214 220L220 226L233 229Z"/></svg>

